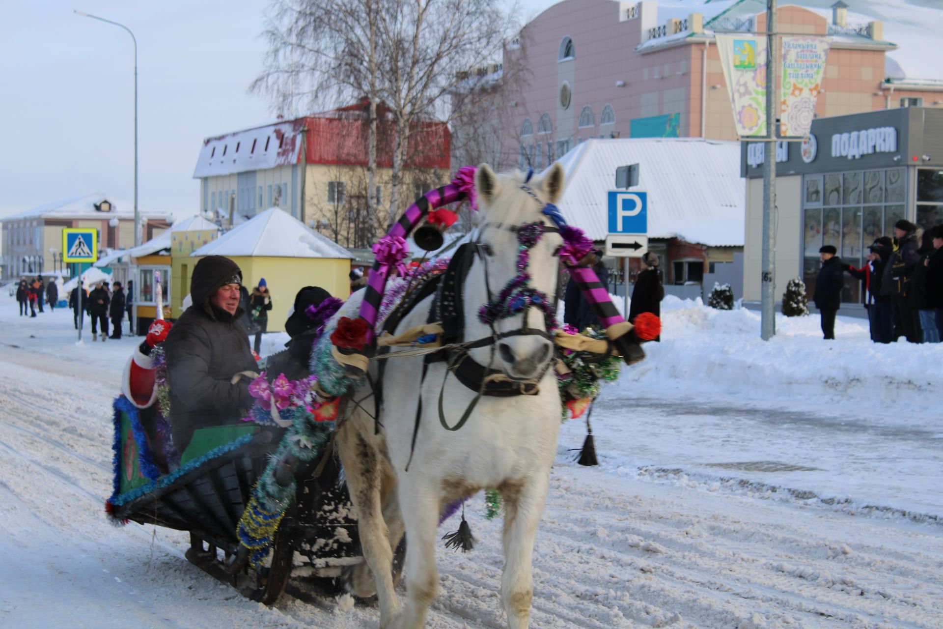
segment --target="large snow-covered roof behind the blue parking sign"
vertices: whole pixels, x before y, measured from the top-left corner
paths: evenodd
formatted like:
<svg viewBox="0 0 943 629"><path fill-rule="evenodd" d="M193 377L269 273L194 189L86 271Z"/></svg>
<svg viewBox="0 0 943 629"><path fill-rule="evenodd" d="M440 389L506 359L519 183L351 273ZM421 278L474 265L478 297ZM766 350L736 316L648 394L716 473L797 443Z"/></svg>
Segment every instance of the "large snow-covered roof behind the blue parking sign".
<svg viewBox="0 0 943 629"><path fill-rule="evenodd" d="M556 204L592 240L608 233L607 192L616 168L639 164L648 192L650 238L678 236L712 246L742 246L746 212L740 145L698 138L587 140L560 158L566 172Z"/></svg>

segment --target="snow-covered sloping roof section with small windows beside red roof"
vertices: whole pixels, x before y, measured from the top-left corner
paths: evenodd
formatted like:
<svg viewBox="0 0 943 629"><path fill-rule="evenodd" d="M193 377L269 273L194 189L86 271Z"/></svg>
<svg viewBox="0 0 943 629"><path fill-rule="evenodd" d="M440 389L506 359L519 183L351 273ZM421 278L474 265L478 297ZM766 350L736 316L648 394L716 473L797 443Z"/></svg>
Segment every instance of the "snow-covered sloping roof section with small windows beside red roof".
<svg viewBox="0 0 943 629"><path fill-rule="evenodd" d="M194 178L244 173L298 162L304 119L266 124L203 141Z"/></svg>

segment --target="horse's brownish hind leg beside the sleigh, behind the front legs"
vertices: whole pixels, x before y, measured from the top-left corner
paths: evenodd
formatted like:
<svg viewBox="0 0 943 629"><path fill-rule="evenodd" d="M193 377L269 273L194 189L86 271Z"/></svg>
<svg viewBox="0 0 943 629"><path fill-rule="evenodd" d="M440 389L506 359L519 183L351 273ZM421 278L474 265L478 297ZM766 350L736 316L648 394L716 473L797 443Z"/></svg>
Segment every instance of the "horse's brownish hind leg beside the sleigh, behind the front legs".
<svg viewBox="0 0 943 629"><path fill-rule="evenodd" d="M339 435L340 463L347 475L347 488L357 513L357 533L364 559L373 573L380 604L380 626L389 626L399 613L393 591L393 551L389 531L383 521L380 501L383 473L379 453L361 436L353 422L345 422Z"/></svg>

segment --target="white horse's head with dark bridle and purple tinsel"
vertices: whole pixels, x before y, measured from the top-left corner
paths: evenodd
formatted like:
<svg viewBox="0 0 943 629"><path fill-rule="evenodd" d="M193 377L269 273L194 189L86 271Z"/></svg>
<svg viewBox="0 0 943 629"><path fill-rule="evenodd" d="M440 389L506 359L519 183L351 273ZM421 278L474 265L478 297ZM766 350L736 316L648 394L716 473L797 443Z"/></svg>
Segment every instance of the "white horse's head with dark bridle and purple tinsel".
<svg viewBox="0 0 943 629"><path fill-rule="evenodd" d="M542 210L560 198L563 179L558 163L529 180L494 174L487 164L475 174L479 220L464 294L466 339L495 337L472 354L516 380L540 377L554 355L547 328L555 323L563 240Z"/></svg>

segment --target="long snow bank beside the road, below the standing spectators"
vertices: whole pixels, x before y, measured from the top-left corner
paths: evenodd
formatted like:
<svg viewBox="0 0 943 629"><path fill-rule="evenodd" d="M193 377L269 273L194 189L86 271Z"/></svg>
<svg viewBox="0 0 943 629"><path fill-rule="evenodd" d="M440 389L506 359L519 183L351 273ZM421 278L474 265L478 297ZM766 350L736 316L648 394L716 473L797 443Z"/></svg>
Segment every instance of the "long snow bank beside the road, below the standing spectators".
<svg viewBox="0 0 943 629"><path fill-rule="evenodd" d="M647 343L648 358L623 376L639 385L704 398L736 394L744 402L847 400L879 413L925 411L943 390L943 344L873 343L864 320L839 316L836 339L828 341L818 315L777 314L777 334L764 341L760 314L751 310L668 296L661 314L661 342Z"/></svg>

